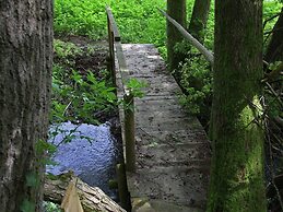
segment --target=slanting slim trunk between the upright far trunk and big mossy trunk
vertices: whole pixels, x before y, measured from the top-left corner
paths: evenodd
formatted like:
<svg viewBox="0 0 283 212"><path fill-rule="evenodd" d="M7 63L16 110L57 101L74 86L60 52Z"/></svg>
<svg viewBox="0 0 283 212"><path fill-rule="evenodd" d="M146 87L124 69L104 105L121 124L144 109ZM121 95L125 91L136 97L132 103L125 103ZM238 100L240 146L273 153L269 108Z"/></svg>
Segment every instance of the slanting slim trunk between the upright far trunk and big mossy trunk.
<svg viewBox="0 0 283 212"><path fill-rule="evenodd" d="M189 24L189 33L203 43L207 22L210 13L210 0L194 0L191 20Z"/></svg>

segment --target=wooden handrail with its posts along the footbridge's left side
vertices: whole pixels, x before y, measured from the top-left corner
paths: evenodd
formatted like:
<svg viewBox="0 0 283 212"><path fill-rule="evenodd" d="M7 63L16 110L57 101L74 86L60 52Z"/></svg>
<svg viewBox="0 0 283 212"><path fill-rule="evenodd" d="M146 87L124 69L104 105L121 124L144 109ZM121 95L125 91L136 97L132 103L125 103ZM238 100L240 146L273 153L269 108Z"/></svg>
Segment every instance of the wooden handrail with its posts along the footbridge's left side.
<svg viewBox="0 0 283 212"><path fill-rule="evenodd" d="M129 80L126 59L122 52L121 37L115 22L110 8L106 7L107 26L108 26L108 43L109 43L109 69L113 76L113 82L117 87L116 79L116 61L117 56L118 70L121 75L122 96L123 96L123 138L126 142L126 169L129 172L135 170L135 139L134 139L134 98L130 87L127 87Z"/></svg>

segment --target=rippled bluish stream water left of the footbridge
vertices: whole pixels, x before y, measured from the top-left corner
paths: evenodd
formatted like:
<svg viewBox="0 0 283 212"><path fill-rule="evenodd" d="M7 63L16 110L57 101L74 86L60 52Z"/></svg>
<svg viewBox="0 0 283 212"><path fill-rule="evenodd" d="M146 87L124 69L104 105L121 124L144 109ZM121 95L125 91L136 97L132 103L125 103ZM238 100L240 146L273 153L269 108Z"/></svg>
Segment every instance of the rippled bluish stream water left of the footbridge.
<svg viewBox="0 0 283 212"><path fill-rule="evenodd" d="M120 143L110 133L110 126L82 123L78 127L71 122L64 122L59 128L52 126L50 130L55 131L56 128L60 133L55 139L50 139L50 142L60 143L71 130L75 130L72 133L75 138L69 143L59 145L54 156L58 165L48 166L47 172L58 175L72 169L83 181L99 187L116 199L117 191L108 188L108 180L115 178L115 166L120 157ZM83 137L87 137L91 141Z"/></svg>

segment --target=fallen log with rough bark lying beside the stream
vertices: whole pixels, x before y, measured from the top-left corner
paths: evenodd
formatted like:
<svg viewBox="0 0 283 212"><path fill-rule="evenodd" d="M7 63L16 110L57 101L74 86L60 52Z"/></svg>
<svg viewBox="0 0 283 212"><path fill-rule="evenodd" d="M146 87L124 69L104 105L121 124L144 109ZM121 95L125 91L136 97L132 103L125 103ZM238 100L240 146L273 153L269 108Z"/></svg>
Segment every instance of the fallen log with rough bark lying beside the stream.
<svg viewBox="0 0 283 212"><path fill-rule="evenodd" d="M84 212L126 212L98 187L91 187L73 173L58 176L47 175L44 185L44 200L61 204L70 181L73 180Z"/></svg>

